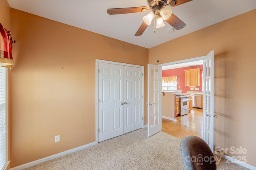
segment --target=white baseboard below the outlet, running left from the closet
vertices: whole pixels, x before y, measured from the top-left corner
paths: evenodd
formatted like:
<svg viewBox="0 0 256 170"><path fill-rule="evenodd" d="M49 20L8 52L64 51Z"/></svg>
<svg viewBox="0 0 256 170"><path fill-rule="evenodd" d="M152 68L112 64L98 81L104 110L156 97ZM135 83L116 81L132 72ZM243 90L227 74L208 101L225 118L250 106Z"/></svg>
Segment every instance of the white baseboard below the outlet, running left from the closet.
<svg viewBox="0 0 256 170"><path fill-rule="evenodd" d="M70 150L66 150L64 152L60 152L58 154L54 154L52 156L48 156L48 157L45 157L45 158L42 158L42 159L38 159L38 160L35 160L33 162L29 162L29 163L26 163L26 164L23 164L23 165L20 165L20 166L16 166L14 168L10 168L10 170L23 170L25 168L28 168L30 166L34 166L34 165L37 165L37 164L40 164L42 162L46 162L48 160L52 160L54 158L58 158L60 156L64 156L66 154L70 154L72 152L76 152L78 150L82 150L82 149L85 149L85 148L88 148L88 147L91 147L93 145L96 145L96 142L93 142L93 143L89 143L87 145L83 145L81 147L77 147L77 148L74 148L74 149L70 149Z"/></svg>

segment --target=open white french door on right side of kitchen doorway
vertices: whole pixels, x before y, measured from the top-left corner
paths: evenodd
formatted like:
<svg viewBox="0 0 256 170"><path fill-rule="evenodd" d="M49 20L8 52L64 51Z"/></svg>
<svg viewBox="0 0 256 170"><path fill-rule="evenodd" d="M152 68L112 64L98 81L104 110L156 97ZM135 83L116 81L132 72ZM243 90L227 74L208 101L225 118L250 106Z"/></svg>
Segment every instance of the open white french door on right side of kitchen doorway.
<svg viewBox="0 0 256 170"><path fill-rule="evenodd" d="M214 132L214 51L204 57L204 123L203 139L213 150Z"/></svg>

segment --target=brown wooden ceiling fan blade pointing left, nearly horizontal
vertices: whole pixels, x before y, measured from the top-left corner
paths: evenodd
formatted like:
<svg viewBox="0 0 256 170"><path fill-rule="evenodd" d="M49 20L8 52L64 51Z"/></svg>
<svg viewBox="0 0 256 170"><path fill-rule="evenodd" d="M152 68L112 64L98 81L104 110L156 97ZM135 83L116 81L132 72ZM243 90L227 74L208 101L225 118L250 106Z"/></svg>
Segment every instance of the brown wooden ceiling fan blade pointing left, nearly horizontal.
<svg viewBox="0 0 256 170"><path fill-rule="evenodd" d="M128 14L128 13L134 13L134 12L142 12L143 9L148 10L146 6L132 7L132 8L110 8L107 10L107 13L109 15Z"/></svg>

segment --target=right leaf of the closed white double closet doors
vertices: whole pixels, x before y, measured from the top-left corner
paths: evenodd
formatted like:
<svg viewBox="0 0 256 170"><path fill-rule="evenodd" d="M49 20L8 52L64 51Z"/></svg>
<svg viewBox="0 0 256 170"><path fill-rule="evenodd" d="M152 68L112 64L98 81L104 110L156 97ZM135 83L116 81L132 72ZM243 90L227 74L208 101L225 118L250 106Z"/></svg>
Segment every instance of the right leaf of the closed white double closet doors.
<svg viewBox="0 0 256 170"><path fill-rule="evenodd" d="M124 66L124 133L142 128L142 68Z"/></svg>

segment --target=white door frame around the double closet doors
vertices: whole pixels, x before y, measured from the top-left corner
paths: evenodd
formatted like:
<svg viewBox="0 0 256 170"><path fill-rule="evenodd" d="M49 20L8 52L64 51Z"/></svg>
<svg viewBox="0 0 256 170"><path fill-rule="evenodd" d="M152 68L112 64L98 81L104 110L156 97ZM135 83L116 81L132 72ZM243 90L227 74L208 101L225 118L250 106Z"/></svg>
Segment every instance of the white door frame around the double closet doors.
<svg viewBox="0 0 256 170"><path fill-rule="evenodd" d="M98 139L98 101L99 101L99 98L98 98L98 63L109 63L109 64L118 64L118 65L124 65L124 66L133 66L133 67L139 67L139 68L142 68L142 125L141 125L141 128L144 127L144 66L139 66L139 65L134 65L134 64L126 64L126 63L118 63L118 62L114 62L114 61L106 61L106 60L99 60L99 59L96 59L96 66L95 66L95 81L96 81L96 86L95 86L95 111L96 111L96 119L95 119L95 125L96 125L96 128L95 128L95 131L96 131L96 144L98 144L99 142L99 139Z"/></svg>

